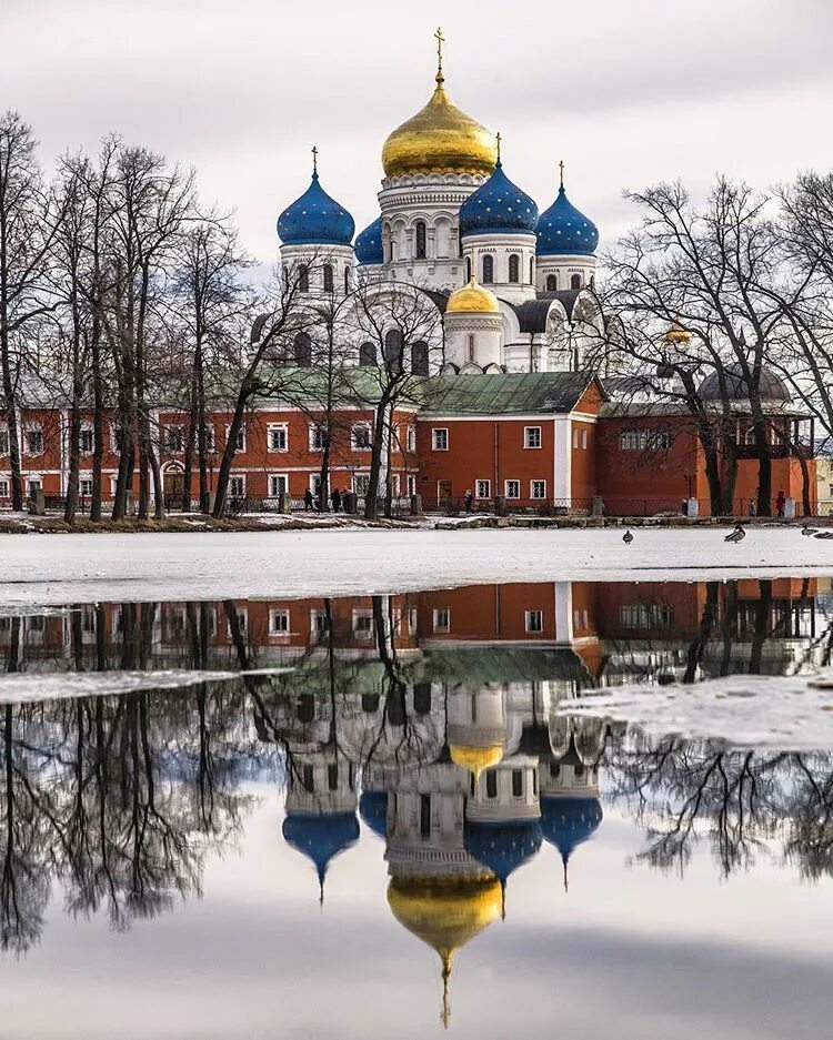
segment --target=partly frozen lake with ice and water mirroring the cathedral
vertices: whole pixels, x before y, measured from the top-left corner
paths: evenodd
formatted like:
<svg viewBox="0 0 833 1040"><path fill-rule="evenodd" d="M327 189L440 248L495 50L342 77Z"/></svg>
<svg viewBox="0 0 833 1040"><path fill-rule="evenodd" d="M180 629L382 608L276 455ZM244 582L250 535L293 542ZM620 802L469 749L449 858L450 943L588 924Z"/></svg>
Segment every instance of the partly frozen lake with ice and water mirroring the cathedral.
<svg viewBox="0 0 833 1040"><path fill-rule="evenodd" d="M4 543L0 1033L826 1036L833 598L775 534Z"/></svg>

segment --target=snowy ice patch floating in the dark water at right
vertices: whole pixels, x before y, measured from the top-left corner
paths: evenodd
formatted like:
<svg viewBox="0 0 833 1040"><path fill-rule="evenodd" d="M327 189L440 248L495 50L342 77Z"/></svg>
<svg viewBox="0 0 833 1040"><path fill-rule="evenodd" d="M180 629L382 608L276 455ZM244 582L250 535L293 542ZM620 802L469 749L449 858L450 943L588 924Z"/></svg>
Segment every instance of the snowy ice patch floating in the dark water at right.
<svg viewBox="0 0 833 1040"><path fill-rule="evenodd" d="M825 680L823 680L824 683ZM651 736L782 750L833 747L833 675L735 675L693 686L623 686L565 701L562 714L626 721Z"/></svg>

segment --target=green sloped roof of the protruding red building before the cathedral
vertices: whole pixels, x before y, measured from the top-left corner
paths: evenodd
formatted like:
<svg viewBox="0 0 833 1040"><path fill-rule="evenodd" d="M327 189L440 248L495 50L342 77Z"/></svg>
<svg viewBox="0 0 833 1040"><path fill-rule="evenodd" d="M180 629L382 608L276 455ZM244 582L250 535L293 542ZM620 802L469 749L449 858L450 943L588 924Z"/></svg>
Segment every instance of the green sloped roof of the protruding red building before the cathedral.
<svg viewBox="0 0 833 1040"><path fill-rule="evenodd" d="M592 372L508 372L428 380L423 413L493 415L572 412L594 381Z"/></svg>

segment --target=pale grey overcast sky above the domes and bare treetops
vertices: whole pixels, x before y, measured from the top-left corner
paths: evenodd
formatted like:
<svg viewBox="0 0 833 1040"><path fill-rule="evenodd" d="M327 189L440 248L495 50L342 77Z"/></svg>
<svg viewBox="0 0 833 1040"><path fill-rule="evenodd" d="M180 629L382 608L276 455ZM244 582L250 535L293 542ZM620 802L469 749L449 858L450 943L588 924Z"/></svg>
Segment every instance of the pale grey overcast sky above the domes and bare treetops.
<svg viewBox="0 0 833 1040"><path fill-rule="evenodd" d="M118 131L194 165L271 262L313 143L357 228L375 216L382 142L428 100L438 23L451 97L502 132L509 175L543 209L563 158L603 245L630 222L623 188L833 168L830 0L0 0L0 107L47 162Z"/></svg>

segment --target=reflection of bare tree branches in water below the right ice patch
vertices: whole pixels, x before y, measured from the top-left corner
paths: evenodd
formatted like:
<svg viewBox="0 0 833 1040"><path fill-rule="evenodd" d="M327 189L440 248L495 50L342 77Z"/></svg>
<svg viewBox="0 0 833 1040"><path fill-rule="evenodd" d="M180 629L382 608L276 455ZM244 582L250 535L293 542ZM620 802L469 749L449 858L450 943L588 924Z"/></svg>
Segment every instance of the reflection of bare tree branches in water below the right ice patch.
<svg viewBox="0 0 833 1040"><path fill-rule="evenodd" d="M724 877L760 855L796 861L805 877L833 874L833 755L631 735L608 769L613 800L645 828L639 859L653 867L682 874L702 840Z"/></svg>

